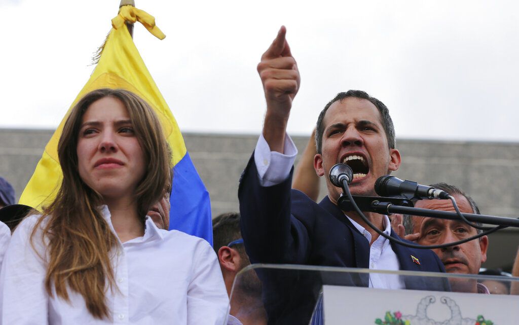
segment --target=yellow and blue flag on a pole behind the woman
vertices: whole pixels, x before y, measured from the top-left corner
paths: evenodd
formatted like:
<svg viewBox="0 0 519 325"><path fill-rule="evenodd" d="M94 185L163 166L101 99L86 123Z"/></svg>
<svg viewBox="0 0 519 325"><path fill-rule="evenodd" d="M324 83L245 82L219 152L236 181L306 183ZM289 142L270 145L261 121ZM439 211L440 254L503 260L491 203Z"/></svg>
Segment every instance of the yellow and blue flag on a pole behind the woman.
<svg viewBox="0 0 519 325"><path fill-rule="evenodd" d="M97 66L72 103L71 109L85 94L99 88L127 89L146 100L157 113L173 150L170 229L204 238L212 244L209 193L189 157L182 133L168 104L133 43L125 21L139 21L159 39L166 37L155 25L153 16L133 6L121 7L117 17L112 19L113 28L102 47ZM71 109L47 143L42 158L20 197L20 204L41 209L56 197L63 177L58 160L58 140Z"/></svg>

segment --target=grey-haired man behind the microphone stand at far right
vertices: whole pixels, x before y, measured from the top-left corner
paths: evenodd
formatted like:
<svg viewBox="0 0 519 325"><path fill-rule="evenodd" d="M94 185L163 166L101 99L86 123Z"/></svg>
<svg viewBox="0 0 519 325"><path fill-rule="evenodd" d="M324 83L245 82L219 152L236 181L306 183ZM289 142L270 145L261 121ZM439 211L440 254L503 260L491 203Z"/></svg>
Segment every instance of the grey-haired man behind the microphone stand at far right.
<svg viewBox="0 0 519 325"><path fill-rule="evenodd" d="M460 212L480 214L480 210L477 208L474 200L461 191L460 188L446 183L432 184L430 186L454 196ZM418 200L415 203L415 207L456 212L450 200ZM481 226L479 223L476 224ZM407 234L405 238L414 240L420 245L439 245L481 233L480 229L471 227L462 221L414 215L404 215L403 227ZM478 274L481 264L486 261L487 249L488 237L483 236L460 245L436 248L433 251L442 261L447 273ZM475 279L450 278L449 282L453 291L489 293L488 288Z"/></svg>

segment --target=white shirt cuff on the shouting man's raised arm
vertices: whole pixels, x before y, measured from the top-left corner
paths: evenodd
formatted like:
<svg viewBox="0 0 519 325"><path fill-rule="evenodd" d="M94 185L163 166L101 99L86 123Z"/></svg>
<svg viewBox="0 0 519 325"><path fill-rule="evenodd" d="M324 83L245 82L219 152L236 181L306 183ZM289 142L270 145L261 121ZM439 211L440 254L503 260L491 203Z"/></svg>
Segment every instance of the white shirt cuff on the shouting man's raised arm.
<svg viewBox="0 0 519 325"><path fill-rule="evenodd" d="M297 148L288 134L285 136L284 153L270 151L267 141L260 134L254 150L254 162L262 186L277 185L286 180L294 165Z"/></svg>

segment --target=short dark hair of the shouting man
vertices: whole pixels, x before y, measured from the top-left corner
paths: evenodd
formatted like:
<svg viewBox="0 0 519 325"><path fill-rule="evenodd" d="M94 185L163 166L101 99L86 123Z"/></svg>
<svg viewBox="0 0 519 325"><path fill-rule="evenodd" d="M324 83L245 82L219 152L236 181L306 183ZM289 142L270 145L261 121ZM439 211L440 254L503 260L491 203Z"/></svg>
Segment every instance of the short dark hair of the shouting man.
<svg viewBox="0 0 519 325"><path fill-rule="evenodd" d="M335 96L334 99L332 99L330 102L324 106L324 109L319 114L319 117L317 118L317 127L316 127L316 148L317 153L321 154L322 149L322 141L323 141L323 133L324 133L324 115L326 115L326 111L330 108L330 106L335 103L336 101L342 101L343 99L347 97L356 97L360 99L365 99L370 101L375 107L377 107L378 111L380 112L381 122L384 127L384 131L386 131L386 138L388 140L388 146L391 149L395 148L395 134L394 134L394 125L393 120L391 119L391 116L389 115L389 110L384 105L383 102L379 101L375 97L371 97L367 94L367 92L362 90L348 90L346 92L339 92L337 96Z"/></svg>

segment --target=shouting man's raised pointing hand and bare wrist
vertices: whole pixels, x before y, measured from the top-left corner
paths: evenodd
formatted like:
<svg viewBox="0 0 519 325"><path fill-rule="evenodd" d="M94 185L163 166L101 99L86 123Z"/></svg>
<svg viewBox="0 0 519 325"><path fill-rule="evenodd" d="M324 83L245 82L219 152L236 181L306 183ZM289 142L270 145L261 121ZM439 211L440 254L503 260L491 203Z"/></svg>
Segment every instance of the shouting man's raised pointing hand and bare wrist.
<svg viewBox="0 0 519 325"><path fill-rule="evenodd" d="M292 57L285 34L286 28L281 26L276 39L263 53L257 66L267 101L263 137L270 150L279 153L284 151L286 124L301 83L297 63Z"/></svg>

